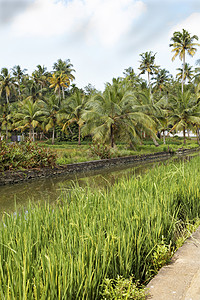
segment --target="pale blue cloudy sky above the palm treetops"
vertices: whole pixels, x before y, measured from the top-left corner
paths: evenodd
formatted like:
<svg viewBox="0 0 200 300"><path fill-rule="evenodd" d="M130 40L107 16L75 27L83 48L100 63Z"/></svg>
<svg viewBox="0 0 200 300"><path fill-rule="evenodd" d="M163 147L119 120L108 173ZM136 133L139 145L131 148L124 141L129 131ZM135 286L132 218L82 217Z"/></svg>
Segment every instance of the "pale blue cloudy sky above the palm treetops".
<svg viewBox="0 0 200 300"><path fill-rule="evenodd" d="M52 71L70 59L79 88L103 90L129 67L139 74L140 54L152 51L175 76L181 61L172 62L169 44L183 28L200 38L200 0L0 0L0 69ZM197 48L186 56L193 66Z"/></svg>

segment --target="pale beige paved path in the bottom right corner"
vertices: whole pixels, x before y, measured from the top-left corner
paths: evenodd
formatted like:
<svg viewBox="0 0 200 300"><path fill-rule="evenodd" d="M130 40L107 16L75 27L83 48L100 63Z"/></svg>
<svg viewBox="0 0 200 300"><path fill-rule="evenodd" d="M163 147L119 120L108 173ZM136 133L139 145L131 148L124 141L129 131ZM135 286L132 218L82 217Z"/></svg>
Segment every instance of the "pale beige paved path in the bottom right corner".
<svg viewBox="0 0 200 300"><path fill-rule="evenodd" d="M147 288L151 300L200 300L200 227Z"/></svg>

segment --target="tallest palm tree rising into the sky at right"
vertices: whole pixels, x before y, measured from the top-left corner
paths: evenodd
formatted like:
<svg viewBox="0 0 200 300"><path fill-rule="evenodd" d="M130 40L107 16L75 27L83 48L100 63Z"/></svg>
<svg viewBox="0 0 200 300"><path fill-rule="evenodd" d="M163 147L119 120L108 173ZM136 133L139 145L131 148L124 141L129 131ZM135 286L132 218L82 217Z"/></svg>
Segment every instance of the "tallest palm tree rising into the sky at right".
<svg viewBox="0 0 200 300"><path fill-rule="evenodd" d="M198 40L197 35L191 36L190 33L183 29L182 32L175 31L173 33L173 37L171 38L172 43L169 44L170 47L173 47L172 52L174 56L172 57L172 61L175 60L177 56L179 56L180 60L183 62L182 69L182 93L184 86L184 73L185 73L185 56L188 53L190 56L194 56L197 49L196 46L200 46L198 43L194 43L194 40Z"/></svg>

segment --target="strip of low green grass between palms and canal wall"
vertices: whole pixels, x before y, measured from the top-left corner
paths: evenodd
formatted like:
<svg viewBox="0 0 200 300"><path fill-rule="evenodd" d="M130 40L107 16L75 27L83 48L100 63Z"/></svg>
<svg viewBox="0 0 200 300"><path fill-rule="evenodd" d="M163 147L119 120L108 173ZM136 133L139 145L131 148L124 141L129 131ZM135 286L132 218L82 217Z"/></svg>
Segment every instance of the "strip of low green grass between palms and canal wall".
<svg viewBox="0 0 200 300"><path fill-rule="evenodd" d="M198 144L195 140L187 140L186 145L183 144L182 138L167 138L166 145L163 145L162 141L158 141L159 146L156 147L151 140L144 141L142 145L138 145L135 150L129 149L127 144L117 144L116 147L110 149L107 147L108 156L119 157L119 156L130 156L130 155L142 155L154 152L176 151L179 148L196 148ZM55 145L51 145L51 141L48 143L39 143L40 145L50 148L57 154L57 163L58 164L69 164L76 162L84 162L100 159L101 157L91 151L89 143L84 143L80 146L77 143L69 142L57 142ZM103 147L102 147L103 148ZM97 151L98 152L98 151ZM99 151L104 154L104 149Z"/></svg>

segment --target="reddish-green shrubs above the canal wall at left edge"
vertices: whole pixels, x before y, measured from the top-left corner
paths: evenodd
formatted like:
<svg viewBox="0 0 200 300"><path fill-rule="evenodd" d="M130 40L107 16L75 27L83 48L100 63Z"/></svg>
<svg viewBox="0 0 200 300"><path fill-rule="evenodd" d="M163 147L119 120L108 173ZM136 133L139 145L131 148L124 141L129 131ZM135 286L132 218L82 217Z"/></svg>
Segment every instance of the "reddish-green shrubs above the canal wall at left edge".
<svg viewBox="0 0 200 300"><path fill-rule="evenodd" d="M0 171L55 166L56 155L33 142L0 143Z"/></svg>

